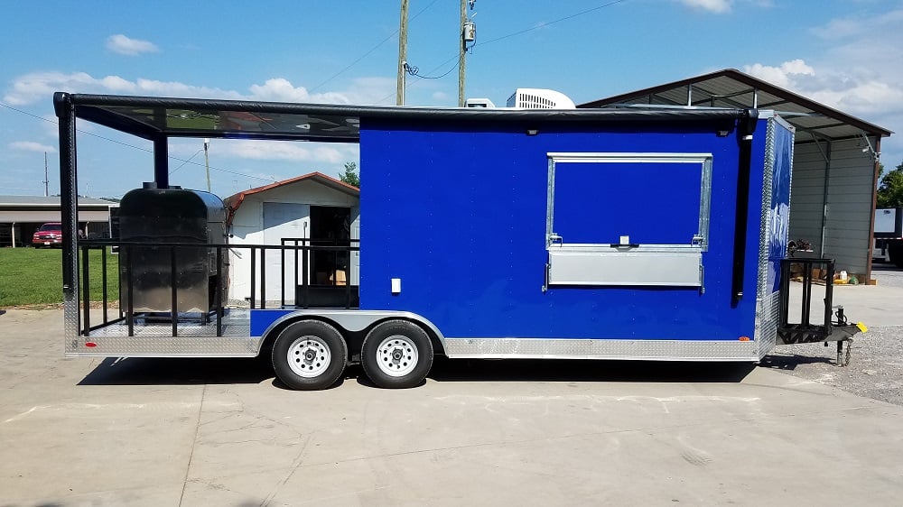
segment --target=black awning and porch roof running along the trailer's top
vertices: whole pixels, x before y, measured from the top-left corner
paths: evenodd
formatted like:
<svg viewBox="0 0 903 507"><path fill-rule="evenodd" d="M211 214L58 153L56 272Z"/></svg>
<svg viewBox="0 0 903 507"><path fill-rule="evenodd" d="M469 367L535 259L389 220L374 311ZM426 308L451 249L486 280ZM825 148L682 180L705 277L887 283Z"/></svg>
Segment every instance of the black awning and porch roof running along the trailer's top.
<svg viewBox="0 0 903 507"><path fill-rule="evenodd" d="M749 109L640 111L637 109L486 109L293 104L200 98L68 94L53 97L58 116L76 117L147 139L225 137L356 143L362 119L487 122L535 126L557 122L712 122L748 119Z"/></svg>

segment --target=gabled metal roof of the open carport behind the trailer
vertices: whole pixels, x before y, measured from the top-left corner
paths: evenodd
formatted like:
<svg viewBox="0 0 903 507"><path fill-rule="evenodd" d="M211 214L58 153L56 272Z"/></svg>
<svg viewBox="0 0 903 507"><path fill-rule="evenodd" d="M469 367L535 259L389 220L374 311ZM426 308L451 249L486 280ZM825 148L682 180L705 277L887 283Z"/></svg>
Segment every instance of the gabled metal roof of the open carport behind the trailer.
<svg viewBox="0 0 903 507"><path fill-rule="evenodd" d="M796 127L797 141L850 139L893 132L736 69L724 69L657 87L600 98L581 108L641 106L757 107L771 109Z"/></svg>

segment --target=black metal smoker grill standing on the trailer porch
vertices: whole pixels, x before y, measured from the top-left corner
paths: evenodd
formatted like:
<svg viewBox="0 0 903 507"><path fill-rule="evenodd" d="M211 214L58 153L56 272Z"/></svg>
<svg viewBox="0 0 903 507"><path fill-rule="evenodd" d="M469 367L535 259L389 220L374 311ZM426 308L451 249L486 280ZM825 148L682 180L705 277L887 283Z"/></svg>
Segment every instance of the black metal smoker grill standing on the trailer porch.
<svg viewBox="0 0 903 507"><path fill-rule="evenodd" d="M207 246L227 242L226 209L220 198L145 183L119 204L119 240L120 308L130 308L131 298L135 314L172 316L174 310L200 313L206 321L215 309L220 277L228 280L225 261L218 265L216 248Z"/></svg>

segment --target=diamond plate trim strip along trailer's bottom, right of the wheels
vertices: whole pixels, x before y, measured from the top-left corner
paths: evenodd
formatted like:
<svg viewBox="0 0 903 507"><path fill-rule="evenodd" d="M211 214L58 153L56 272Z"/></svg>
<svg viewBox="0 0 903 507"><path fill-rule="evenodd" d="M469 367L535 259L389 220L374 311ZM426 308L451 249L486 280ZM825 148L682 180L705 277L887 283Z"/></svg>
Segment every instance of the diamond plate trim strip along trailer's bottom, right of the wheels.
<svg viewBox="0 0 903 507"><path fill-rule="evenodd" d="M452 358L759 360L758 344L751 341L446 338L445 344Z"/></svg>

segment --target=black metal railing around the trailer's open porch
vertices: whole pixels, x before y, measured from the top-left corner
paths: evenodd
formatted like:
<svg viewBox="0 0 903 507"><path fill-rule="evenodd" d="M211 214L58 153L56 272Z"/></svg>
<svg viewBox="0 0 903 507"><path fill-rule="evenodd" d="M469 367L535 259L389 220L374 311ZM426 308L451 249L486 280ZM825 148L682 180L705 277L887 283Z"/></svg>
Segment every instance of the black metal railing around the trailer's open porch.
<svg viewBox="0 0 903 507"><path fill-rule="evenodd" d="M358 240L351 240L348 244L322 244L326 243L310 238L285 238L282 244L185 244L185 243L135 243L121 242L114 240L83 240L79 241L79 249L81 252L79 262L81 264L82 291L80 294L79 305L82 309L81 324L79 326L80 333L88 336L91 331L100 327L107 327L111 324L117 324L125 321L128 336L135 336L135 320L142 318L135 312L135 255L138 251L147 252L147 249L153 249L160 256L168 256L168 283L170 293L170 311L168 317L163 319L169 321L172 325L172 336L179 336L179 276L180 251L186 249L197 251L200 249L209 249L215 252L216 256L216 276L215 283L209 287L212 295L212 304L209 311L201 312L200 319L204 324L209 323L209 318L215 319L216 336L222 336L223 318L226 312L224 300L226 299L225 291L228 290L228 274L231 271L231 263L240 258L239 255L229 255L229 251L250 251L249 255L249 285L250 297L248 305L251 309L266 309L266 270L267 256L266 253L272 250L280 252L281 262L275 266L281 273L281 294L280 306L282 308L357 308L358 307L358 287L353 286L350 277L350 265L352 252L358 252ZM100 251L100 268L92 266L90 262L92 250ZM227 251L224 253L224 250ZM116 267L116 276L111 276L109 272L108 253L117 252L119 263ZM293 305L287 304L286 299L286 252L293 256L293 276L290 281L293 286L295 300ZM339 255L344 253L347 256L348 263L346 267L346 281L341 285L339 281L333 279L330 284L312 283L310 271L312 267L311 256L317 252L329 252ZM228 257L227 257L228 255ZM163 257L161 257L163 258ZM228 259L228 261L227 261ZM299 263L301 270L299 270ZM333 262L333 267L338 263ZM273 266L271 266L272 268ZM90 309L96 300L92 300L91 280L93 276L97 276L97 271L101 278L101 294L100 303L103 311L102 322L98 325L91 325ZM258 275L259 270L259 275ZM333 270L335 272L335 270ZM160 274L160 273L157 273ZM165 274L165 273L164 273ZM213 278L213 277L211 277ZM109 318L110 298L109 294L111 281L115 280L115 286L119 291L118 317ZM337 297L340 295L340 297ZM125 304L124 304L125 303ZM125 307L125 308L123 308Z"/></svg>

